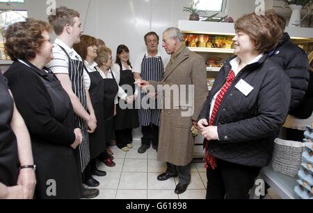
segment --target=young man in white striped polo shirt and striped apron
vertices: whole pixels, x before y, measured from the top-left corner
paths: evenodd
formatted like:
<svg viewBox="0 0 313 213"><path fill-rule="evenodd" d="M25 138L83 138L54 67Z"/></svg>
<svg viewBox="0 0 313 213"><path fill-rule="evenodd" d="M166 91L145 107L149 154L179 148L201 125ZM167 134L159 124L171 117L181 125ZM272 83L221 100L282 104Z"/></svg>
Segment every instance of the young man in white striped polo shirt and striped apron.
<svg viewBox="0 0 313 213"><path fill-rule="evenodd" d="M79 16L79 12L66 7L57 8L56 15L49 15L49 23L54 27L56 40L53 49L54 60L46 67L56 74L72 101L76 123L82 133L77 161L80 166L78 168L81 168L79 172L83 176L83 171L90 161L88 133L95 131L97 120L88 90L83 83L83 60L72 49L73 44L80 42L83 33ZM81 198L94 198L98 195L98 189L85 189L81 186Z"/></svg>

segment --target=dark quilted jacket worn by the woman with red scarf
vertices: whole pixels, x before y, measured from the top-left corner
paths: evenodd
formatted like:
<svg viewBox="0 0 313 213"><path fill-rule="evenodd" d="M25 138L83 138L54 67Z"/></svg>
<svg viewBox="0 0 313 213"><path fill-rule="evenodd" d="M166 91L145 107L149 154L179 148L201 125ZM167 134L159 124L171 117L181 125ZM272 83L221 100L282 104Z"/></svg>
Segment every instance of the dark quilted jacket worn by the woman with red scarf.
<svg viewBox="0 0 313 213"><path fill-rule="evenodd" d="M220 104L214 121L220 140L211 140L208 149L221 160L251 167L264 167L271 161L273 139L287 117L291 88L282 68L267 57L244 67ZM230 60L218 73L199 120L209 118L211 100L225 83ZM241 79L254 88L248 96L235 87Z"/></svg>

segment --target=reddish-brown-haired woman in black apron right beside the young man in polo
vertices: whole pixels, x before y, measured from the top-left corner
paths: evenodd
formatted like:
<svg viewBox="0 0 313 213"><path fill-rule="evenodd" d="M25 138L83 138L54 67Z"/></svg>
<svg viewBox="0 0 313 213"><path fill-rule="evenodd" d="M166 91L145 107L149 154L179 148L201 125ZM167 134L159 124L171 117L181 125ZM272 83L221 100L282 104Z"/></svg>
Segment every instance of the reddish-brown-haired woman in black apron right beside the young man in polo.
<svg viewBox="0 0 313 213"><path fill-rule="evenodd" d="M81 35L81 42L74 44L74 49L85 60L84 69L87 76L84 76L85 86L89 91L90 100L95 110L97 128L94 133L89 134L90 162L85 170L84 183L88 187L97 187L99 182L93 178L95 176L106 176L105 171L96 167L96 159L106 150L105 130L104 130L104 81L99 71L95 68L97 63L97 40L89 35Z"/></svg>

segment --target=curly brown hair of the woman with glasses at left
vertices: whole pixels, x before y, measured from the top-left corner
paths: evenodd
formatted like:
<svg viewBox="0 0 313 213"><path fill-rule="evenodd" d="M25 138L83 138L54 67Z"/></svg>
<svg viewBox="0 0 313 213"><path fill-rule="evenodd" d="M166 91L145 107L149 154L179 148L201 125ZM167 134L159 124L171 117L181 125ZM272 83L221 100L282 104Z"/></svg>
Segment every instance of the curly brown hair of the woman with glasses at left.
<svg viewBox="0 0 313 213"><path fill-rule="evenodd" d="M35 58L36 51L45 42L42 32L51 33L51 25L42 20L26 19L16 22L4 31L6 53L11 60Z"/></svg>

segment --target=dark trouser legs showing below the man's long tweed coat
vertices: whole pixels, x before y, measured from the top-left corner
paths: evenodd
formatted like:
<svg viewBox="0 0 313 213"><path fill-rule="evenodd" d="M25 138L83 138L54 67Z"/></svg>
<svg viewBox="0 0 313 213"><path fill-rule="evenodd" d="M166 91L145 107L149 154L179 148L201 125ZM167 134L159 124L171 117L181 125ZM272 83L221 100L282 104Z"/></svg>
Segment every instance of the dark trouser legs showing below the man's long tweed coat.
<svg viewBox="0 0 313 213"><path fill-rule="evenodd" d="M179 183L181 184L188 184L191 181L191 173L190 173L190 167L191 164L188 164L186 166L176 166L174 164L171 164L169 162L166 163L168 168L166 169L166 173L170 175L176 175L178 174L179 177Z"/></svg>

